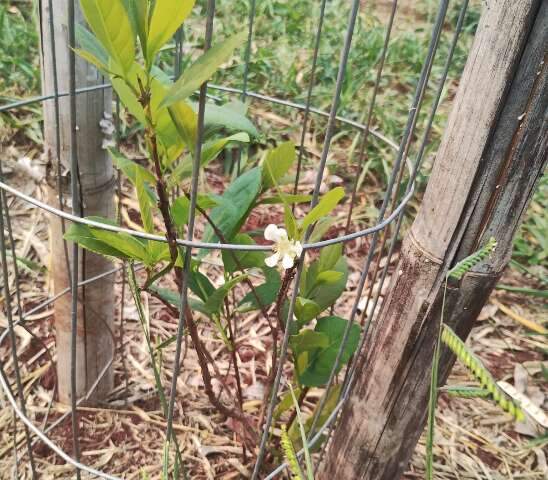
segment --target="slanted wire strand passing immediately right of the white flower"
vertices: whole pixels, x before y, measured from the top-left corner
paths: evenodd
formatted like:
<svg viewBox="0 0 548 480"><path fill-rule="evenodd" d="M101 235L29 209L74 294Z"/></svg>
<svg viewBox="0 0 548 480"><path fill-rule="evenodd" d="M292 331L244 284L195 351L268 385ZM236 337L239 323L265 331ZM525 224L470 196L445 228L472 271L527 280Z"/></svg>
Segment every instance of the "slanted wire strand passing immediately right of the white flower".
<svg viewBox="0 0 548 480"><path fill-rule="evenodd" d="M315 185L314 185L314 192L312 194L312 200L310 202L310 208L311 209L314 208L314 206L316 206L316 204L318 203L318 199L319 199L319 195L320 195L320 186L321 186L321 182L322 182L322 178L323 178L323 172L324 172L324 169L325 169L325 164L326 164L326 161L327 161L327 156L329 154L329 149L330 149L330 146L331 146L331 140L333 138L333 132L334 132L334 129L335 129L337 111L338 111L338 108L339 108L340 96L341 96L342 86L343 86L344 77L345 77L345 73L346 73L346 66L347 66L347 63L348 63L348 55L350 53L350 46L352 44L352 37L353 37L353 34L354 34L354 28L355 28L355 25L356 25L356 19L357 19L357 16L358 16L359 7L360 7L359 0L353 0L352 6L350 8L348 24L347 24L346 33L345 33L344 45L343 45L343 48L341 50L340 59L339 59L339 68L338 68L338 72L337 72L337 82L336 82L336 85L335 85L335 92L334 92L334 95L333 95L333 103L331 105L331 110L329 112L329 119L328 119L328 122L327 122L325 140L324 140L322 155L321 155L321 158L320 158L320 165L319 165L319 169L318 169L318 174L316 176L316 182L315 182ZM310 237L311 231L312 231L312 226L309 226L307 228L306 232L305 232L305 235L304 235L304 242L305 243L308 240L308 238ZM282 342L280 357L279 357L279 360L278 360L278 368L277 368L276 377L275 377L274 385L273 385L272 392L271 392L270 402L269 402L269 405L268 405L267 417L266 417L266 421L265 421L265 425L264 425L264 429L263 429L263 433L262 433L262 437L261 437L261 442L260 442L260 446L259 446L259 453L257 455L257 460L255 462L255 466L254 466L254 469L253 469L253 474L252 474L252 477L251 477L252 480L256 480L259 476L262 460L264 458L264 454L265 454L265 450L266 450L266 444L267 444L267 441L268 441L270 426L272 424L274 408L276 406L276 400L277 400L278 391L279 391L279 388L280 388L280 381L281 381L281 377L282 377L282 373L283 373L283 365L284 365L286 357L287 357L287 347L288 347L288 343L289 343L289 332L291 331L291 324L293 322L293 312L294 312L295 303L296 303L296 300L297 300L297 295L298 295L298 292L299 292L299 284L300 284L300 278L301 278L302 270L303 270L303 267L304 267L305 256L306 256L306 252L303 251L303 253L301 254L301 256L299 258L297 273L295 275L295 280L293 282L293 292L292 292L292 295L291 295L291 300L290 300L290 304L289 304L289 311L288 311L288 315L287 315L287 319L286 319L286 328L285 328L285 332L284 332L284 338L283 338L283 342Z"/></svg>

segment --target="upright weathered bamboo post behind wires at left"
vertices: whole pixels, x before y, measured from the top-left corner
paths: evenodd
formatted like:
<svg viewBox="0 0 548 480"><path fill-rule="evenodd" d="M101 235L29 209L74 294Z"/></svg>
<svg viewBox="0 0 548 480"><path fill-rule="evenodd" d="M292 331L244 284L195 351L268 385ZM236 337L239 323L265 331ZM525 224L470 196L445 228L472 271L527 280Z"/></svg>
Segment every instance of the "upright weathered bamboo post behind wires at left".
<svg viewBox="0 0 548 480"><path fill-rule="evenodd" d="M73 0L42 0L40 11L42 89L45 94L69 91L68 2ZM76 6L78 2L76 1ZM51 9L51 10L50 10ZM76 7L77 22L82 20ZM53 22L53 26L50 22ZM52 37L53 31L53 37ZM104 83L104 78L88 62L76 59L76 87L90 87ZM76 148L79 172L70 170L71 118L70 100L62 96L44 103L44 136L48 154L48 201L56 207L71 211L70 177L79 175L83 214L114 217L114 171L103 148L104 130L108 125L112 94L98 89L77 95ZM58 172L61 175L58 178ZM54 294L70 287L72 247L62 240L65 225L58 217L50 216L51 277ZM68 228L68 224L66 227ZM98 255L81 251L78 277L94 277L112 268L112 264ZM78 291L78 333L76 381L77 397L84 395L97 381L113 355L114 339L114 279L108 276L81 287ZM70 402L70 331L71 295L61 296L54 304L57 343L57 379L59 400ZM108 368L101 378L90 402L104 398L113 387L113 369Z"/></svg>

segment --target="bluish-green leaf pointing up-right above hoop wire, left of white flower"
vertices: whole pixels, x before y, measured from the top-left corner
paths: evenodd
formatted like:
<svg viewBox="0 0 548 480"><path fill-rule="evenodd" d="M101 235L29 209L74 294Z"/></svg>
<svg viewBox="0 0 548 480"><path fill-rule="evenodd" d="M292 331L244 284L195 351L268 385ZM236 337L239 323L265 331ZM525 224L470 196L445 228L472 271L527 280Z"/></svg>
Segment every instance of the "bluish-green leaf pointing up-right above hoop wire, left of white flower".
<svg viewBox="0 0 548 480"><path fill-rule="evenodd" d="M246 218L261 187L261 170L258 167L248 170L239 176L225 190L220 198L219 206L211 211L211 219L227 240L232 239L240 224ZM204 241L216 239L213 230L208 226Z"/></svg>

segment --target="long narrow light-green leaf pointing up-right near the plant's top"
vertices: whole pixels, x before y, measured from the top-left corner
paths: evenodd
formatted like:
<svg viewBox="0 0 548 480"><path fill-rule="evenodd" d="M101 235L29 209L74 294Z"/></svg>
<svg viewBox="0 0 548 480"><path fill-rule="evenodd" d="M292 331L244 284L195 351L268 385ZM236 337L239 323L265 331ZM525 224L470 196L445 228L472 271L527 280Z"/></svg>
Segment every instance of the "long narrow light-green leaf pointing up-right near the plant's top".
<svg viewBox="0 0 548 480"><path fill-rule="evenodd" d="M183 72L181 77L169 89L161 106L173 105L192 95L232 56L234 50L244 43L246 37L247 32L243 31L211 47Z"/></svg>

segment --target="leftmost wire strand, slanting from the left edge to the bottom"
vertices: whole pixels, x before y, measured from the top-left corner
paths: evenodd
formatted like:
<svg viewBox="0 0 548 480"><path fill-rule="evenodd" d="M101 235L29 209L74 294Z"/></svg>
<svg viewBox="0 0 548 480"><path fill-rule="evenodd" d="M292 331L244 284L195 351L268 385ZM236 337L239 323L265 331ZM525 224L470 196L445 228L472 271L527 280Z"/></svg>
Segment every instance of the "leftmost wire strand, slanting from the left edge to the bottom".
<svg viewBox="0 0 548 480"><path fill-rule="evenodd" d="M23 384L21 382L21 371L19 370L19 358L17 357L17 338L15 337L15 328L13 326L13 317L11 314L11 292L9 287L9 274L8 274L8 262L6 255L6 239L4 235L4 203L5 195L2 191L0 195L0 250L1 250L1 259L2 259L2 276L4 279L4 303L6 305L6 319L8 321L8 330L9 338L11 343L11 354L13 361L13 370L15 372L15 384L17 387L17 395L19 396L19 403L21 405L21 411L26 416L27 407L25 402L25 392L23 390ZM13 245L12 245L13 253ZM13 253L15 258L15 253ZM25 425L25 438L27 443L27 450L29 454L29 462L31 465L32 477L36 478L36 466L34 464L34 456L32 453L32 445L30 439L30 432L28 427Z"/></svg>

